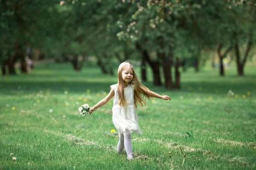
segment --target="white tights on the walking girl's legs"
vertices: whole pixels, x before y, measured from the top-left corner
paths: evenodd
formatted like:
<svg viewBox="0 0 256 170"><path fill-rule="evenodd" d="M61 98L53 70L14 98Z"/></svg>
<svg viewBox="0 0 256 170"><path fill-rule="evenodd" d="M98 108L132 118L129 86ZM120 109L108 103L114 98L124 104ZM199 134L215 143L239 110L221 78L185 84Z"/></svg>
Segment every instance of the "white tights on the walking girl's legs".
<svg viewBox="0 0 256 170"><path fill-rule="evenodd" d="M119 142L117 144L117 152L122 153L122 151L126 150L128 159L132 159L132 151L131 151L131 132L129 130L125 130L122 133L119 133Z"/></svg>

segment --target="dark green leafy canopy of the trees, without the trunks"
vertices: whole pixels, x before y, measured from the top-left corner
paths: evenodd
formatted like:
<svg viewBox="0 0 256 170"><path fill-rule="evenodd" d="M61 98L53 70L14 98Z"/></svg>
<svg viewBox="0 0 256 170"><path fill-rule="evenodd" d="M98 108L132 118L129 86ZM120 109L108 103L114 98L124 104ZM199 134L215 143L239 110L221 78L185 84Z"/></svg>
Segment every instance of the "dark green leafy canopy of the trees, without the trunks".
<svg viewBox="0 0 256 170"><path fill-rule="evenodd" d="M12 56L16 42L47 57L116 55L140 57L136 43L148 53L199 56L202 50L255 42L254 8L241 0L65 0L0 1L2 57ZM157 57L152 57L158 60ZM105 63L111 68L110 63Z"/></svg>

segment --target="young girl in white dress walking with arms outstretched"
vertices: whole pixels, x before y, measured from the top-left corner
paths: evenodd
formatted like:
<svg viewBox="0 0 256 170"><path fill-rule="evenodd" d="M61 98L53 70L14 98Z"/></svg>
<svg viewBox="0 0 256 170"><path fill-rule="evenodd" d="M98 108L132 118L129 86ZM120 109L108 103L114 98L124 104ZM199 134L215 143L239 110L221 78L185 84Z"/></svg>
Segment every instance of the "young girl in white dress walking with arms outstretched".
<svg viewBox="0 0 256 170"><path fill-rule="evenodd" d="M126 150L128 159L132 159L131 151L131 132L142 134L138 125L136 113L137 104L146 105L145 100L157 97L159 99L170 100L169 96L161 96L141 84L133 66L129 62L122 62L118 68L118 82L111 85L108 96L90 108L90 113L102 107L113 99L113 124L119 132L119 142L117 152L122 153ZM141 95L142 94L142 95Z"/></svg>

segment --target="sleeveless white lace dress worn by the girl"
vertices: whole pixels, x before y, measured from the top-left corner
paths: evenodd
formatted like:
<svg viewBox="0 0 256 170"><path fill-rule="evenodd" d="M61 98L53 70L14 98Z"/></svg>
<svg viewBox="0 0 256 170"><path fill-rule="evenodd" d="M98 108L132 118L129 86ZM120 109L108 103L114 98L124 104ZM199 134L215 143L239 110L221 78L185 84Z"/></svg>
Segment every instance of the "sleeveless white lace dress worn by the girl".
<svg viewBox="0 0 256 170"><path fill-rule="evenodd" d="M124 88L125 99L128 102L126 107L120 107L118 105L119 96L117 92L117 84L111 85L111 89L115 91L113 97L113 124L119 133L123 133L125 130L130 130L134 133L142 135L138 124L138 116L136 108L134 106L134 88L129 84L127 88Z"/></svg>

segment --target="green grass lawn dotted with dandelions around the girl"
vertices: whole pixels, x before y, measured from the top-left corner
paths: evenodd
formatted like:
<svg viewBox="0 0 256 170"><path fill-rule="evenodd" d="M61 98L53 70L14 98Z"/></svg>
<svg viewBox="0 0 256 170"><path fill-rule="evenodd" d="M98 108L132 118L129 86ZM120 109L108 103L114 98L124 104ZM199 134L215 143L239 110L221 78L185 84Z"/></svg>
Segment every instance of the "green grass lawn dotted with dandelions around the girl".
<svg viewBox="0 0 256 170"><path fill-rule="evenodd" d="M143 136L132 134L131 161L116 153L113 100L92 115L78 111L116 82L99 68L75 72L69 63L0 77L0 169L256 169L255 64L244 77L234 64L225 77L209 66L197 74L189 69L175 91L145 82L171 101L154 99L137 109ZM228 97L229 90L235 95Z"/></svg>

